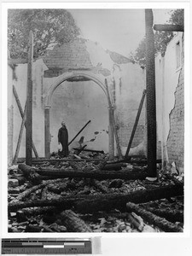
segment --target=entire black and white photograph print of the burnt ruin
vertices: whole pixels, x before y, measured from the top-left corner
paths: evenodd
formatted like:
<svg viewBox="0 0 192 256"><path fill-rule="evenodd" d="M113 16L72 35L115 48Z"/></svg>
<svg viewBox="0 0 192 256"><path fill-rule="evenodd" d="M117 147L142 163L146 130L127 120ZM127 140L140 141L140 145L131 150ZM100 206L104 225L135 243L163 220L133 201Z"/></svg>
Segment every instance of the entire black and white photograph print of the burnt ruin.
<svg viewBox="0 0 192 256"><path fill-rule="evenodd" d="M8 9L8 233L184 232L184 15Z"/></svg>

